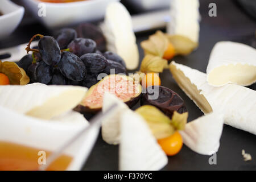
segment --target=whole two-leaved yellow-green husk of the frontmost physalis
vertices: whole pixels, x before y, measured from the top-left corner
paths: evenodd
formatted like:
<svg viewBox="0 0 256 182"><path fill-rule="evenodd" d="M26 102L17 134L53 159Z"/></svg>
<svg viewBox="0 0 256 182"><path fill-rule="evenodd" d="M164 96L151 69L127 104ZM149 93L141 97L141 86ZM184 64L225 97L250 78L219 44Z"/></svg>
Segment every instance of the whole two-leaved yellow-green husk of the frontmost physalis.
<svg viewBox="0 0 256 182"><path fill-rule="evenodd" d="M188 118L188 113L179 114L174 111L174 115L170 119L151 105L141 106L136 112L145 119L156 139L169 137L176 130L184 130Z"/></svg>

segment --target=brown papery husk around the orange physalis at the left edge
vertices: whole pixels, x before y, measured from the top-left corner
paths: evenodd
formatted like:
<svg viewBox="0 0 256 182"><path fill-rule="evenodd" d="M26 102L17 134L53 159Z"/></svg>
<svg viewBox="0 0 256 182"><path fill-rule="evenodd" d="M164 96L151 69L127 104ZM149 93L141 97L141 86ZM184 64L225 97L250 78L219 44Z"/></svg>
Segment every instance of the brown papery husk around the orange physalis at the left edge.
<svg viewBox="0 0 256 182"><path fill-rule="evenodd" d="M26 75L24 69L14 62L3 62L0 60L0 73L5 74L11 85L27 85L30 82L30 78Z"/></svg>

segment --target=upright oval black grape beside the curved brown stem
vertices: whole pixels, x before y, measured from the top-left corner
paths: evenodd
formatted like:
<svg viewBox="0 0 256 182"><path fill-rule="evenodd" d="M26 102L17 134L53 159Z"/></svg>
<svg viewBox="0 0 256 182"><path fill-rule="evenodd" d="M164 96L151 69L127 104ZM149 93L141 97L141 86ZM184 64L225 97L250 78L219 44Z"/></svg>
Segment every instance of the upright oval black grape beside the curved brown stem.
<svg viewBox="0 0 256 182"><path fill-rule="evenodd" d="M57 41L51 36L44 36L38 43L42 60L47 65L57 65L60 62L60 47Z"/></svg>

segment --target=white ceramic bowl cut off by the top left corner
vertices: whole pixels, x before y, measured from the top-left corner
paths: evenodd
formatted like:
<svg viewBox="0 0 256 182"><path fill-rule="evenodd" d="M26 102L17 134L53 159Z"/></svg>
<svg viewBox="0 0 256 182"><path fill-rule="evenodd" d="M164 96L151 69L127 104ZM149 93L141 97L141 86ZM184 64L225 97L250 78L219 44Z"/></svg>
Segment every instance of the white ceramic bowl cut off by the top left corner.
<svg viewBox="0 0 256 182"><path fill-rule="evenodd" d="M18 27L24 15L24 7L18 6L10 0L1 0L0 11L0 39L9 36Z"/></svg>

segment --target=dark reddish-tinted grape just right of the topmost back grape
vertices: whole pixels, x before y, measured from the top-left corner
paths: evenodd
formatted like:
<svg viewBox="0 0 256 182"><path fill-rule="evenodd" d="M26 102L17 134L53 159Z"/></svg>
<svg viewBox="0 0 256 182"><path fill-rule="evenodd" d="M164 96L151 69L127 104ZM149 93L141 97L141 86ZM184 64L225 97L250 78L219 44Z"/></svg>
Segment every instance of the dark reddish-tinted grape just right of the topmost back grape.
<svg viewBox="0 0 256 182"><path fill-rule="evenodd" d="M68 45L68 48L75 55L81 57L86 53L95 52L96 43L92 39L77 38Z"/></svg>

